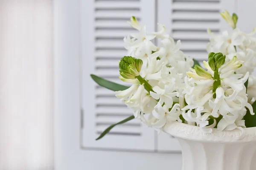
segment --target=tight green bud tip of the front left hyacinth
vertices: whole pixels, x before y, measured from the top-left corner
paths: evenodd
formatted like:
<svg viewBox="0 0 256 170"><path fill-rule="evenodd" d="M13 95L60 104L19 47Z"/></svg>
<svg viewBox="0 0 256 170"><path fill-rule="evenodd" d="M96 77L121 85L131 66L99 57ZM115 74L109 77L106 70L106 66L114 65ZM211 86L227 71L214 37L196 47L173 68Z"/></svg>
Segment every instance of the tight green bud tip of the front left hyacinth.
<svg viewBox="0 0 256 170"><path fill-rule="evenodd" d="M120 75L125 79L135 79L140 75L143 61L131 56L122 57L119 62Z"/></svg>

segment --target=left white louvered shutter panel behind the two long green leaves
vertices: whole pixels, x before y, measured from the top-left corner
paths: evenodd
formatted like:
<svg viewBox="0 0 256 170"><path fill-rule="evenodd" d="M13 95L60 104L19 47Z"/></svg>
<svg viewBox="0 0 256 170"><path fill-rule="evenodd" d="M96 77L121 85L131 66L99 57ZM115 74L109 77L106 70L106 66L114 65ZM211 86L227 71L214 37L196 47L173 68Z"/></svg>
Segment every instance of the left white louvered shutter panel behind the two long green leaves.
<svg viewBox="0 0 256 170"><path fill-rule="evenodd" d="M154 150L154 130L138 120L114 127L104 138L95 141L105 128L133 113L113 91L96 85L89 77L93 73L129 85L118 78L118 61L127 54L123 38L136 31L126 22L136 16L153 31L154 0L86 0L81 5L84 9L81 11L82 147Z"/></svg>

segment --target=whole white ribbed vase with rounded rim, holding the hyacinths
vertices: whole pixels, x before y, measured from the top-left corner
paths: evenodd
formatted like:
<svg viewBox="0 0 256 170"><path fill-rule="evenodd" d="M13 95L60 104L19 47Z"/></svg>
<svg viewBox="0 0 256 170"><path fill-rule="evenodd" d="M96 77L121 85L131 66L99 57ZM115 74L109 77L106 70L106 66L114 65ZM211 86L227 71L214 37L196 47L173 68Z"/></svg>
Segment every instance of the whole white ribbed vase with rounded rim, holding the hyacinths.
<svg viewBox="0 0 256 170"><path fill-rule="evenodd" d="M182 148L182 170L256 170L256 127L202 133L197 126L172 122L163 130Z"/></svg>

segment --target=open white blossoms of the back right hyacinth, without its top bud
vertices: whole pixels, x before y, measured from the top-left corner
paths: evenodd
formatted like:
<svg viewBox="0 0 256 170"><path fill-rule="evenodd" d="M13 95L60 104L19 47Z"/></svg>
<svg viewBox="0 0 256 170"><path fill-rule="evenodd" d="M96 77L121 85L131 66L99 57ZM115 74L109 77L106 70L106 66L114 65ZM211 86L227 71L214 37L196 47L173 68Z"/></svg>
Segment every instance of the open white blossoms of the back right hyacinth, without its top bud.
<svg viewBox="0 0 256 170"><path fill-rule="evenodd" d="M233 56L244 61L241 68L236 70L239 74L251 74L256 67L256 38L253 33L245 34L239 28L230 32L224 31L220 35L214 35L209 29L210 42L207 45L207 52L221 52L231 60ZM227 60L227 62L229 61Z"/></svg>

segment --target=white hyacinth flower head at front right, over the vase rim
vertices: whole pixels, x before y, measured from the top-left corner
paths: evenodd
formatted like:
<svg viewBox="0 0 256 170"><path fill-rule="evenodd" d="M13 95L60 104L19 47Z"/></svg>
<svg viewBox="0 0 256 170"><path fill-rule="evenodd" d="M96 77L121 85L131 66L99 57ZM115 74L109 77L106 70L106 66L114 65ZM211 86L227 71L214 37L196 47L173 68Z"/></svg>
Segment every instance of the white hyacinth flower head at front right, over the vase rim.
<svg viewBox="0 0 256 170"><path fill-rule="evenodd" d="M195 69L188 72L185 80L185 99L188 105L182 109L182 116L188 124L198 125L207 133L212 132L216 119L218 130L242 130L242 127L245 127L242 118L246 114L246 108L251 114L254 113L252 106L247 102L244 86L249 73L247 72L244 77L241 74L234 74L242 63L243 61L233 57L216 71L212 70L208 62L204 62L207 71L202 72L205 74L196 73ZM211 125L210 118L213 119Z"/></svg>

